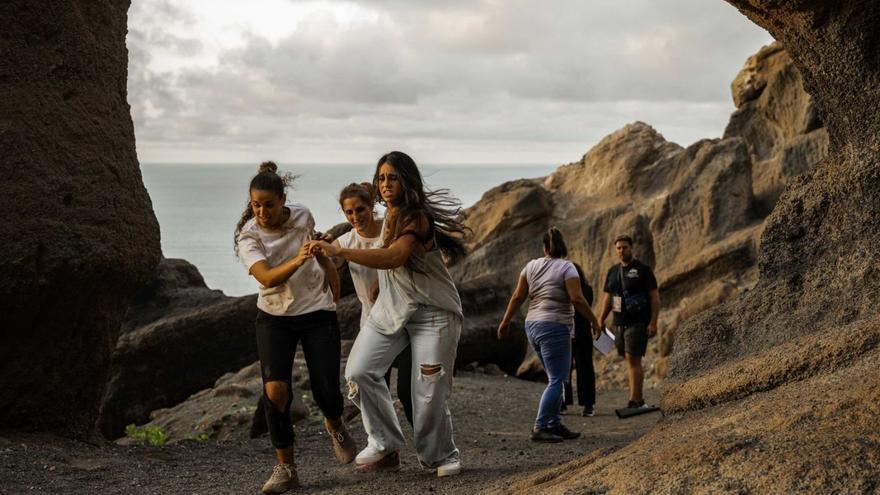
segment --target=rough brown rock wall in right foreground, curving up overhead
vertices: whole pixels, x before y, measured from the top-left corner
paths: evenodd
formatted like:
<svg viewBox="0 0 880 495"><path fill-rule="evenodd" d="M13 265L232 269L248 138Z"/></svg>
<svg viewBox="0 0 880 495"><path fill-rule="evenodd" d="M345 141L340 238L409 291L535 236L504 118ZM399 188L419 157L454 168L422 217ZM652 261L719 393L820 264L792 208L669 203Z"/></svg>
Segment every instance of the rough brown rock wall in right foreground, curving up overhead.
<svg viewBox="0 0 880 495"><path fill-rule="evenodd" d="M880 486L880 5L731 0L782 42L829 155L767 220L755 287L678 331L666 419L506 493L870 493Z"/></svg>

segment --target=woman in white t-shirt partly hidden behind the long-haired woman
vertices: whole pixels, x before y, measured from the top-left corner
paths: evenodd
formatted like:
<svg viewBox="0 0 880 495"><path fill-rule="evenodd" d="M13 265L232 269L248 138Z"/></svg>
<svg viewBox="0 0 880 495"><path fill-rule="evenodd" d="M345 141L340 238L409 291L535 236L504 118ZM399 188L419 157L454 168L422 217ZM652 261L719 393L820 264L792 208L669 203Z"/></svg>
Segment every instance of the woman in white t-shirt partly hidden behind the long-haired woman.
<svg viewBox="0 0 880 495"><path fill-rule="evenodd" d="M382 218L375 214L376 193L373 184L369 182L351 183L345 186L339 193L339 206L345 219L351 224L352 229L339 236L333 244L344 249L378 249L384 241L382 239ZM336 267L345 264L345 259L335 257ZM348 262L351 272L351 280L354 291L361 302L361 324L363 328L373 309L373 302L379 292L379 274L375 268L370 268L353 261ZM397 368L397 397L403 405L403 412L407 421L412 425L412 389L411 368L412 351L407 346L400 352L391 365ZM385 383L391 387L391 368L385 373Z"/></svg>

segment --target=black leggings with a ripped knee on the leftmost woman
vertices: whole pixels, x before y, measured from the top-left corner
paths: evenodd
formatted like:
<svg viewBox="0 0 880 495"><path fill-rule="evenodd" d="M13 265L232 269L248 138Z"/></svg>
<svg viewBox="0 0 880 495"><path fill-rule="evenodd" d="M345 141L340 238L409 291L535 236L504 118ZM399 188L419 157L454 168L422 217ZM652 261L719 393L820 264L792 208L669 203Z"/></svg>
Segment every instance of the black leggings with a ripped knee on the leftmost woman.
<svg viewBox="0 0 880 495"><path fill-rule="evenodd" d="M315 311L297 316L274 316L257 310L257 352L263 376L263 409L272 446L285 449L293 445L290 403L293 400L291 374L296 345L302 342L309 382L315 402L329 419L342 416L339 391L339 323L335 311ZM287 384L287 404L281 412L266 396L265 384Z"/></svg>

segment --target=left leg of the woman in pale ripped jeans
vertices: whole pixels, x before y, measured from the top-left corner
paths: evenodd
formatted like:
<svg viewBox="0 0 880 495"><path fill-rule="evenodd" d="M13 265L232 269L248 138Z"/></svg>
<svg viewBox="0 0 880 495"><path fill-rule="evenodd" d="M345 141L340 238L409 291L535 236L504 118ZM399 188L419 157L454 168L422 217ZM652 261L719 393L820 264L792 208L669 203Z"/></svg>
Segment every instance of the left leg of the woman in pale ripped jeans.
<svg viewBox="0 0 880 495"><path fill-rule="evenodd" d="M396 451L406 443L383 379L406 345L405 331L385 335L368 322L358 333L345 366L348 398L360 408L367 445L376 452Z"/></svg>

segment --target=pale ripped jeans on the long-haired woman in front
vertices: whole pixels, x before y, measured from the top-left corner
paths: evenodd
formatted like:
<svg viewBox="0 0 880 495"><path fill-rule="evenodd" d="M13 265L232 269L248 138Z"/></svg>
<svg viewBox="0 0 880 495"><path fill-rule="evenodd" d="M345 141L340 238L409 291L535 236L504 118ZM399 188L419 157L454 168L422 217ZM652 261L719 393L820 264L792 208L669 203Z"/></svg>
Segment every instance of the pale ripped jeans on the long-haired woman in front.
<svg viewBox="0 0 880 495"><path fill-rule="evenodd" d="M383 377L394 358L410 344L413 431L419 462L435 468L458 458L452 438L452 415L446 402L452 392L461 324L455 313L419 306L405 328L394 334L378 332L369 321L361 329L348 356L345 377L348 398L361 409L370 446L393 451L406 443Z"/></svg>

